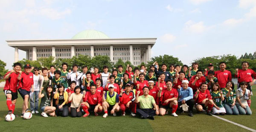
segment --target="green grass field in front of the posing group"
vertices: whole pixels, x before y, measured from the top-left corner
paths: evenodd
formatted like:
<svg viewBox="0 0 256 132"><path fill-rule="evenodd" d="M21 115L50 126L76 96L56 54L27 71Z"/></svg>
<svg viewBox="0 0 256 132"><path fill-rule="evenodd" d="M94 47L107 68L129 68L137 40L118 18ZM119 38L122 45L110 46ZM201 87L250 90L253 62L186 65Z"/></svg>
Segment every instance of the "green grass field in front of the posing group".
<svg viewBox="0 0 256 132"><path fill-rule="evenodd" d="M0 89L3 90L2 88ZM256 91L256 86L253 87ZM254 92L255 93L255 92ZM238 124L256 129L256 95L252 96L251 109L252 115L224 115L222 118L236 122ZM17 99L15 114L20 115L23 100L19 96ZM16 117L15 121L5 121L7 113L6 96L0 92L0 132L212 132L212 131L237 131L248 132L239 126L222 121L218 118L206 115L196 114L189 117L187 113L178 114L177 118L165 115L155 116L155 120L140 119L139 117L131 117L129 115L117 117L108 116L102 118L102 115L89 115L87 118L71 118L71 117L48 117L44 118L39 114L34 114L30 120Z"/></svg>

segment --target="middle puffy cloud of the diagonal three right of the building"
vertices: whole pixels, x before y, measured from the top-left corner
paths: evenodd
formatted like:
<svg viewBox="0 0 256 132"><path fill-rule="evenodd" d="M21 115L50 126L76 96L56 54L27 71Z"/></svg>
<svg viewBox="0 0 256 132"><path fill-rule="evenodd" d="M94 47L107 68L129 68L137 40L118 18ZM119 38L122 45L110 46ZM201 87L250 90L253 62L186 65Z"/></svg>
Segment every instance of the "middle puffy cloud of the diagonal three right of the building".
<svg viewBox="0 0 256 132"><path fill-rule="evenodd" d="M203 33L204 31L207 31L213 27L214 26L209 26L209 27L205 26L203 21L195 23L192 20L189 20L185 23L184 30L191 33Z"/></svg>

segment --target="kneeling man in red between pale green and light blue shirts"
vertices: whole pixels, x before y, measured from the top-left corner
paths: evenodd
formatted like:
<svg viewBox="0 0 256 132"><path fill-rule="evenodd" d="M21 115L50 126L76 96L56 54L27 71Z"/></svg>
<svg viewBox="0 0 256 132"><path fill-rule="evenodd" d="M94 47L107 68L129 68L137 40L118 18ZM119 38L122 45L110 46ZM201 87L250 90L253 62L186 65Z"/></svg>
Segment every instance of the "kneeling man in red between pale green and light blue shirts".
<svg viewBox="0 0 256 132"><path fill-rule="evenodd" d="M167 88L162 90L160 87L160 109L159 114L165 115L166 110L172 108L172 115L177 117L178 115L175 113L178 107L178 91L175 88L172 88L172 81L166 81Z"/></svg>

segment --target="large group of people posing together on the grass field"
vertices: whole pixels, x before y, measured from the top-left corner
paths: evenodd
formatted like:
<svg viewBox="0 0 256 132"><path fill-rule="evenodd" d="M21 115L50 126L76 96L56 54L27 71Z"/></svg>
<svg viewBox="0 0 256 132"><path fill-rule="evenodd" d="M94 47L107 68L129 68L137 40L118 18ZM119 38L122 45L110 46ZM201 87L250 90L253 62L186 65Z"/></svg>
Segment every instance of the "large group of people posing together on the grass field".
<svg viewBox="0 0 256 132"><path fill-rule="evenodd" d="M139 115L140 118L154 119L155 115L178 117L181 112L193 116L193 108L207 115L251 115L251 86L256 81L256 73L248 69L249 63L242 62L241 69L236 69L238 85L235 90L231 72L226 70L226 63L220 62L220 70L215 71L210 63L203 72L198 63L187 65L162 64L157 62L149 67L127 65L109 71L103 66L88 71L87 66L74 64L67 70L67 63L61 69L55 66L32 67L29 64L21 71L21 64L16 62L13 70L6 73L4 93L8 114L13 114L18 93L23 98L21 117L25 112L39 113L43 117L63 116L87 117L90 113L103 118L109 114L125 116ZM41 103L39 103L41 98ZM29 108L30 101L30 108ZM38 109L38 106L40 109ZM17 115L16 115L17 116Z"/></svg>

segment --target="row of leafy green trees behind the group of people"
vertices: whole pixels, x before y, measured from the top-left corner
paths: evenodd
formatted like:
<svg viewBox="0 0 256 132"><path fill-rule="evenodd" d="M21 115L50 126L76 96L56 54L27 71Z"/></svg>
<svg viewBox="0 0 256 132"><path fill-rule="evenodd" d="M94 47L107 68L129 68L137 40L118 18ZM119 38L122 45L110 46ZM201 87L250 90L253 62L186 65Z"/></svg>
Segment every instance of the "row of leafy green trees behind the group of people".
<svg viewBox="0 0 256 132"><path fill-rule="evenodd" d="M254 53L256 54L256 53ZM214 69L218 70L219 69L219 62L226 62L227 63L227 70L230 70L231 73L234 76L234 73L236 72L236 68L241 68L241 62L243 61L247 61L250 64L251 69L256 71L256 59L248 59L248 58L238 58L237 56L234 55L222 55L222 56L209 56L209 57L202 57L202 58L198 58L193 60L193 62L198 62L199 67L198 69L204 70L204 68L207 68L209 63L212 63L214 65ZM122 59L119 59L118 62L116 62L115 65L113 65L113 63L111 62L109 56L94 56L94 57L90 57L90 56L85 56L85 55L79 55L79 56L73 56L71 59L56 59L54 61L54 58L48 57L48 58L40 58L38 59L38 61L30 61L27 59L23 59L19 61L23 66L26 64L30 64L34 67L50 67L51 65L54 65L56 68L61 68L61 64L63 62L66 62L68 64L68 69L72 68L73 64L77 64L79 65L79 70L81 70L81 67L84 65L87 65L87 67L92 68L92 67L99 67L101 71L103 71L102 67L104 65L107 65L108 67L110 67L110 71L112 69L112 67L116 67L118 65L122 65L123 66L123 72L126 69L126 65L131 65L131 62L127 61L127 62L123 62ZM170 55L163 55L163 56L155 56L153 58L151 58L151 61L148 62L147 65L145 65L144 63L141 63L140 65L145 65L146 67L149 67L154 63L154 62L158 62L159 65L162 65L163 63L165 63L166 65L168 65L167 70L169 70L169 65L173 64L173 65L183 65L183 63L177 58L177 57L173 57ZM192 64L192 62L191 62ZM140 67L140 65L138 65L138 67ZM4 68L6 66L6 63L3 61L0 61L0 76L3 76L7 70ZM133 66L134 67L134 66Z"/></svg>

